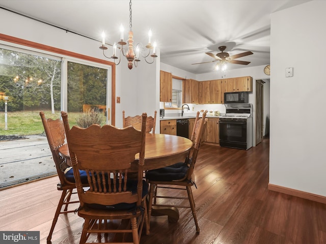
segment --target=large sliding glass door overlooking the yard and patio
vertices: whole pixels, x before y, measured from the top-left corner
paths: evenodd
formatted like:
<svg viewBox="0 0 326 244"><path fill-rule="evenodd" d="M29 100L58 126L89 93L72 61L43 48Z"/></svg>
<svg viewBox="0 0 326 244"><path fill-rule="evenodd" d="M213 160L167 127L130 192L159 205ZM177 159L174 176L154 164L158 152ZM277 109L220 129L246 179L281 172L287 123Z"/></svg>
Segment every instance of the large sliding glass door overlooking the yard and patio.
<svg viewBox="0 0 326 244"><path fill-rule="evenodd" d="M0 189L55 174L39 115L111 124L111 66L0 45Z"/></svg>

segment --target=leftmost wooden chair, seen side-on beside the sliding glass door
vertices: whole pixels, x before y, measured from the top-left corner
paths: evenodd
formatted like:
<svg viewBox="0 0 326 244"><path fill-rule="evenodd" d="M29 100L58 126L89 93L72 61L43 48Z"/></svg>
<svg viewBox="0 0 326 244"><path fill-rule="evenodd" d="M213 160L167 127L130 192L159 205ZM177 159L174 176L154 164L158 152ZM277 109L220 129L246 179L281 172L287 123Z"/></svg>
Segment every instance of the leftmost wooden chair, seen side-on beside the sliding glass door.
<svg viewBox="0 0 326 244"><path fill-rule="evenodd" d="M53 218L52 221L50 232L46 238L47 242L50 243L52 238L52 233L53 230L55 229L59 215L67 214L68 212L74 212L75 208L77 208L78 205L77 206L75 205L75 208L71 210L68 210L68 205L73 203L79 203L79 201L78 200L70 201L72 194L77 193L76 191L73 191L76 188L75 180L73 177L73 169L69 168L69 166L66 163L66 160L63 157L61 157L59 154L59 148L65 144L65 139L66 139L63 122L59 118L56 120L53 120L51 118L45 118L43 111L40 112L40 116L42 119L46 138L52 153L52 158L53 161L55 162L57 173L60 180L60 182L57 184L57 190L62 191L57 206L57 210L55 213L55 217ZM81 174L84 175L83 182L86 183L84 172L82 172ZM87 184L84 184L83 186L86 187ZM64 209L62 209L63 206L65 206Z"/></svg>

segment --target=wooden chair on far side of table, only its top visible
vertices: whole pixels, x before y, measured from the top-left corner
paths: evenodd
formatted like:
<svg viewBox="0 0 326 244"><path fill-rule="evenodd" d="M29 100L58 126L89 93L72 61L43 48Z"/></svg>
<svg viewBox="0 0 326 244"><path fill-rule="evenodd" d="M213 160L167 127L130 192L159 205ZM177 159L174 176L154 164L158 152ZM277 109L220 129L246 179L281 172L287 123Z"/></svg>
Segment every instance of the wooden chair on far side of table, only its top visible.
<svg viewBox="0 0 326 244"><path fill-rule="evenodd" d="M157 111L154 111L154 117L148 116L146 121L146 133L152 132L152 134L155 134L155 124L156 124L156 113ZM125 111L122 111L122 127L125 128L127 126L133 126L136 130L141 130L142 126L142 116L136 115L136 116L128 116L125 117Z"/></svg>

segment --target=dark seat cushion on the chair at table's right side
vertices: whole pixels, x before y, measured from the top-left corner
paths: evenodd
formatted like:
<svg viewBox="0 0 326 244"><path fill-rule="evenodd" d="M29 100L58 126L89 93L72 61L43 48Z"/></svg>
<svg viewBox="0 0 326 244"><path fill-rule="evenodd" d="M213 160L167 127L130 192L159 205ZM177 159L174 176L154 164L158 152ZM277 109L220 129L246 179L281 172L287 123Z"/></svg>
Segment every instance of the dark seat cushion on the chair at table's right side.
<svg viewBox="0 0 326 244"><path fill-rule="evenodd" d="M184 178L187 174L187 171L188 166L185 163L180 162L168 167L149 170L146 173L146 179L153 181L177 180Z"/></svg>

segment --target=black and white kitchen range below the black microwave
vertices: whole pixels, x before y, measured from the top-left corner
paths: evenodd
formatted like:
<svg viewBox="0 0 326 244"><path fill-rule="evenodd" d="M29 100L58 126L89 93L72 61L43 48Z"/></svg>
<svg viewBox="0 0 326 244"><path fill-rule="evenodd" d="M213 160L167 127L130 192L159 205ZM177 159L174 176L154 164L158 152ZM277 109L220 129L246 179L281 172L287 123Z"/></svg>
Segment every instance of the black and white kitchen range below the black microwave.
<svg viewBox="0 0 326 244"><path fill-rule="evenodd" d="M252 105L226 104L220 116L220 146L248 150L252 147Z"/></svg>

